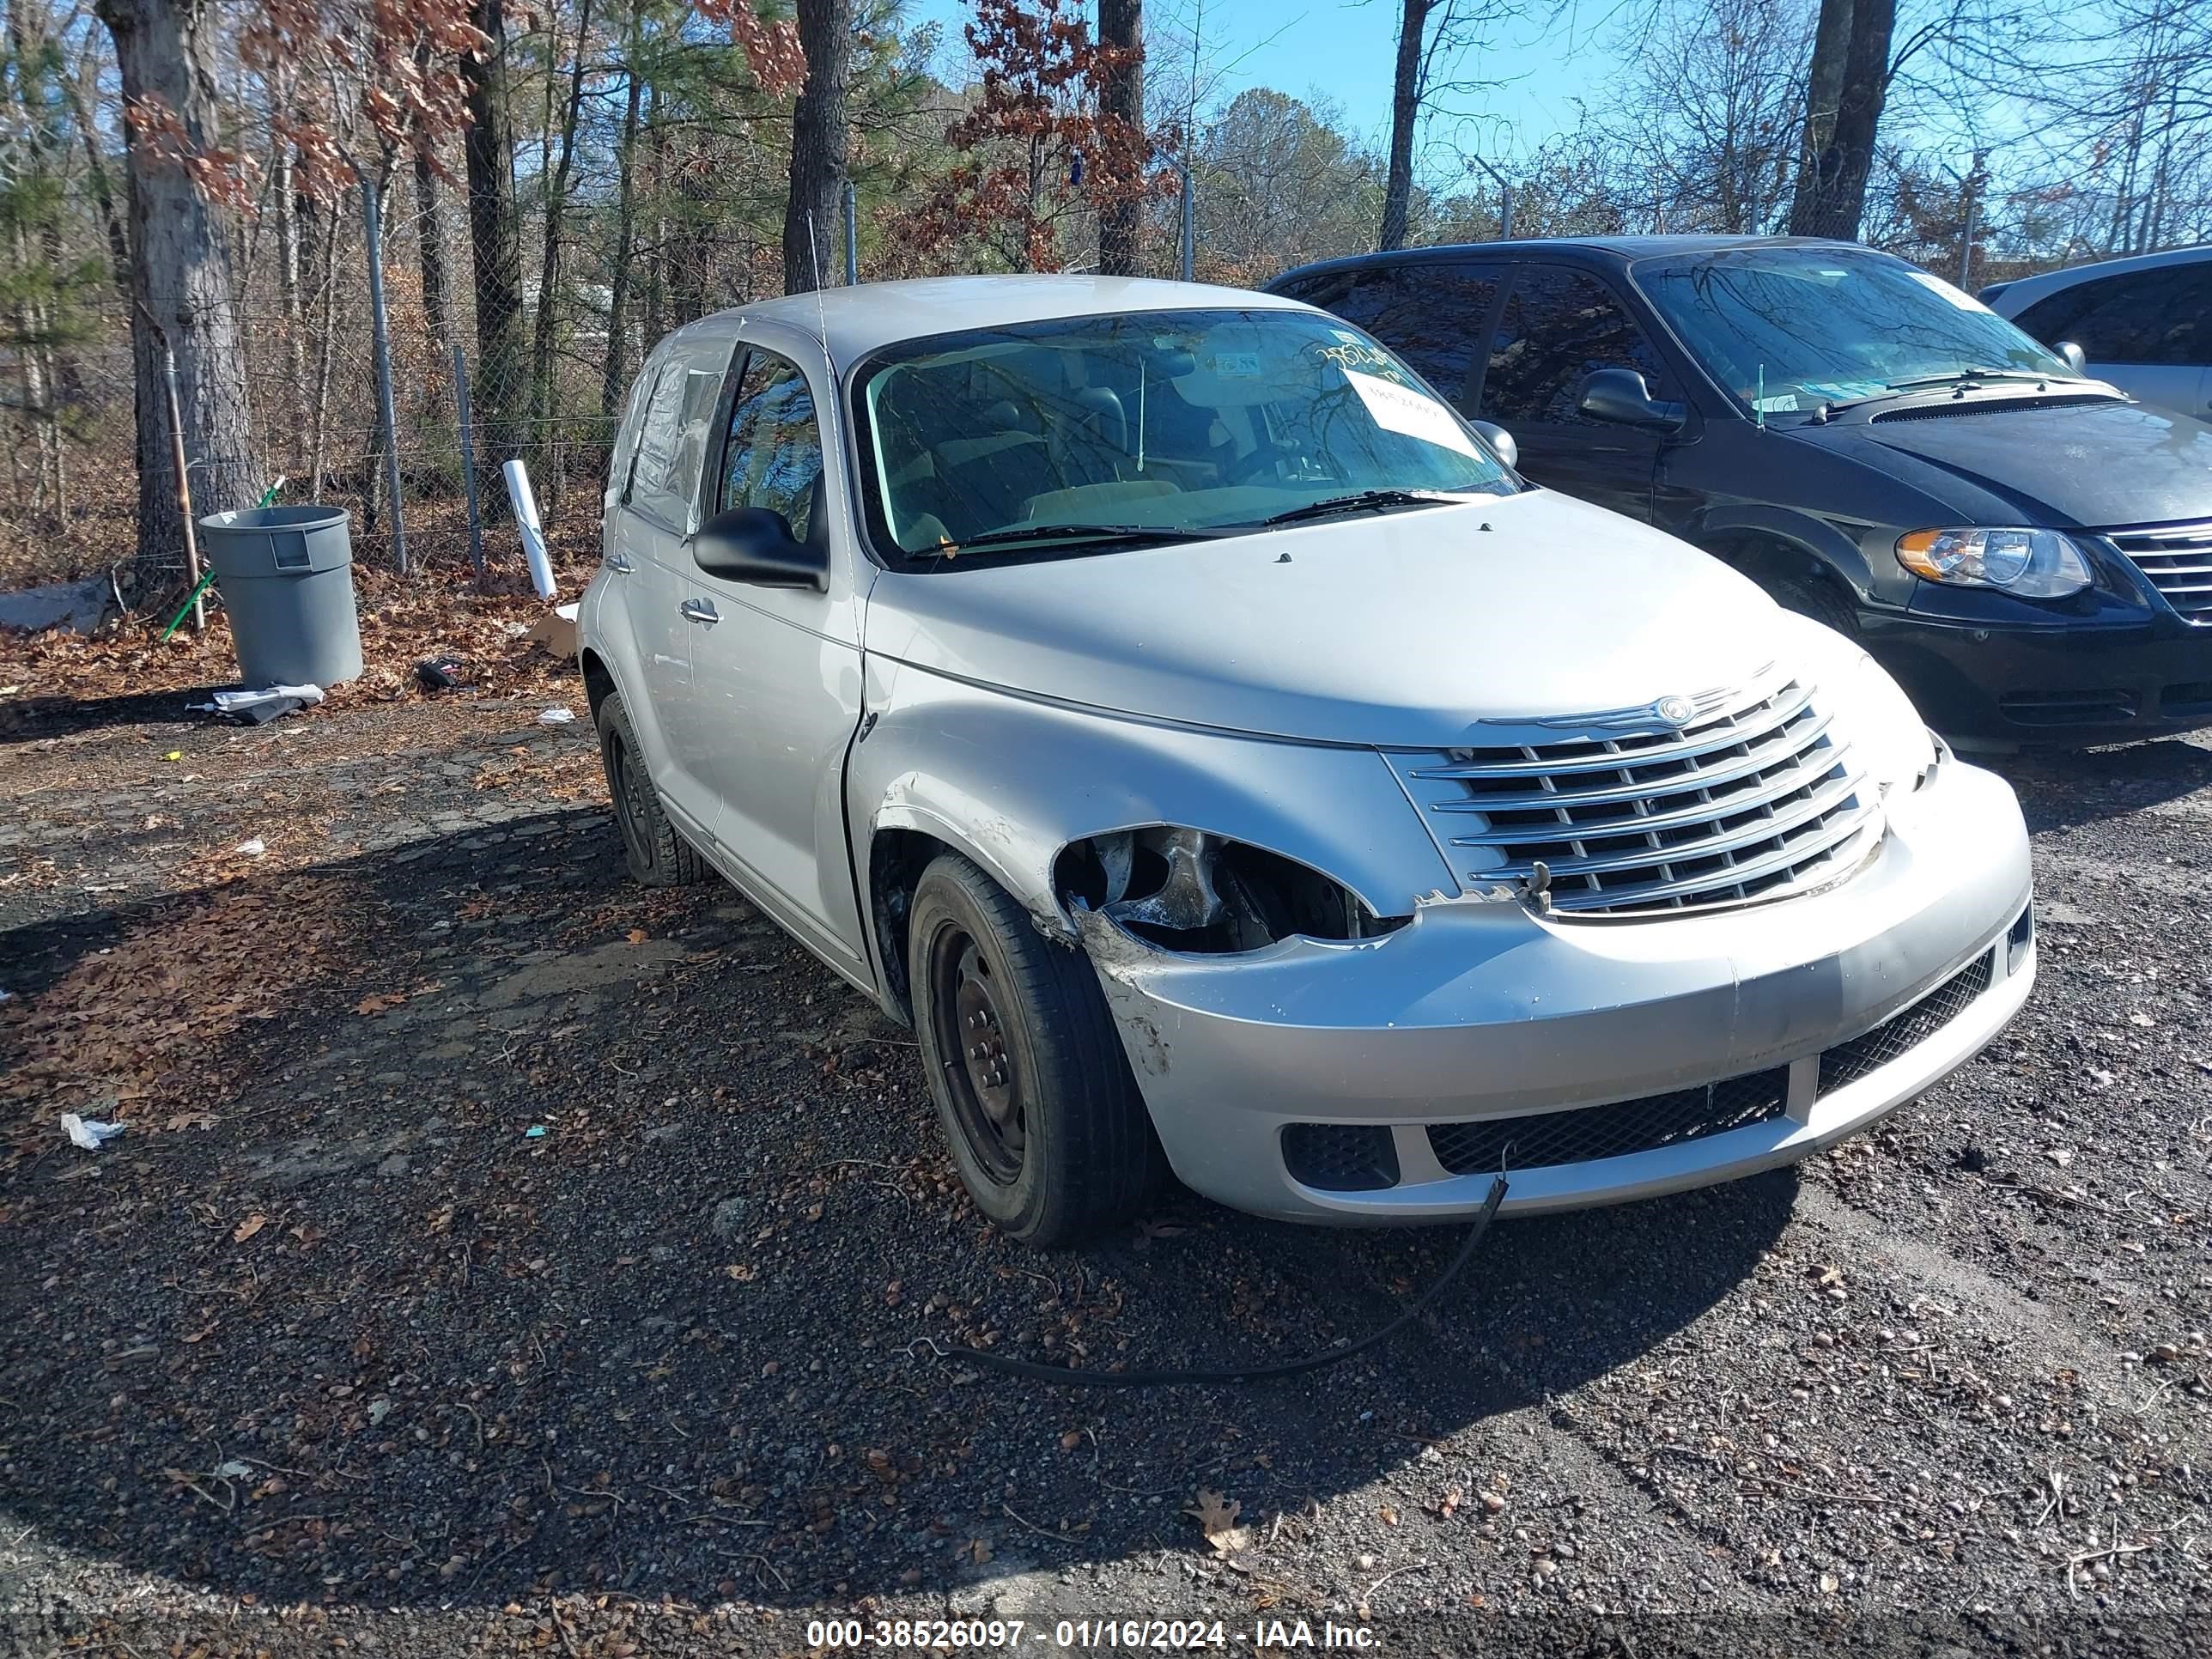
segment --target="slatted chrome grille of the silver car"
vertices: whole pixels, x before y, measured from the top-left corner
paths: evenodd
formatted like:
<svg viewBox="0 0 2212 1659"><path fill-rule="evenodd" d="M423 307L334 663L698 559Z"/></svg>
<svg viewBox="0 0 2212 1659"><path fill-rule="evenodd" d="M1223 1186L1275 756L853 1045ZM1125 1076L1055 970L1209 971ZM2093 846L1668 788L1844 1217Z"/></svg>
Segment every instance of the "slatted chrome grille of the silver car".
<svg viewBox="0 0 2212 1659"><path fill-rule="evenodd" d="M1688 701L1679 730L1588 717L1571 741L1394 763L1471 891L1544 863L1559 911L1666 911L1843 874L1878 825L1878 796L1814 688L1781 679Z"/></svg>

